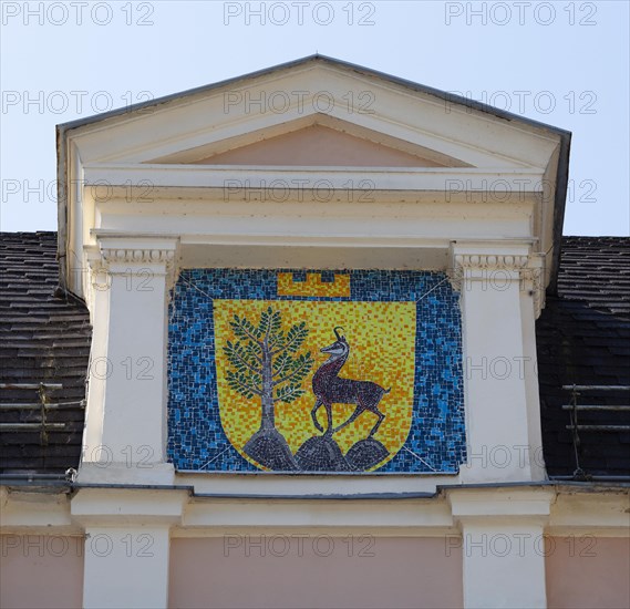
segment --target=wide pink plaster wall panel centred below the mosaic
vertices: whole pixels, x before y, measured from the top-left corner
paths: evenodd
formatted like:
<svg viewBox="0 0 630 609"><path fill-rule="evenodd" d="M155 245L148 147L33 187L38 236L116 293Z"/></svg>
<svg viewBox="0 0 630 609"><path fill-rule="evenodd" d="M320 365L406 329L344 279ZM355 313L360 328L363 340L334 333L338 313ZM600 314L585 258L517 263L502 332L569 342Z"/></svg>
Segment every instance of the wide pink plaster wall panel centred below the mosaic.
<svg viewBox="0 0 630 609"><path fill-rule="evenodd" d="M261 540L264 549L256 545ZM169 607L462 606L462 551L448 551L444 537L320 536L300 546L297 537L255 535L171 543Z"/></svg>

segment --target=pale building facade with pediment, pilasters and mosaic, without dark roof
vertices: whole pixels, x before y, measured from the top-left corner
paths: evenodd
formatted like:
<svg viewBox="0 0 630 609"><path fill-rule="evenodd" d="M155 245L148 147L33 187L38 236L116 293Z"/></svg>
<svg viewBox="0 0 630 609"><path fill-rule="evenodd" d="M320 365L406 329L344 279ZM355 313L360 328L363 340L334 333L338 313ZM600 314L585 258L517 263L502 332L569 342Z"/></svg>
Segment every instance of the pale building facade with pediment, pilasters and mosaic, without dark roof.
<svg viewBox="0 0 630 609"><path fill-rule="evenodd" d="M8 442L3 606L627 606L624 426L596 475L546 463L586 431L565 385L628 385L538 370L569 142L319 55L62 125L79 326L2 385L43 413L6 423L39 426Z"/></svg>

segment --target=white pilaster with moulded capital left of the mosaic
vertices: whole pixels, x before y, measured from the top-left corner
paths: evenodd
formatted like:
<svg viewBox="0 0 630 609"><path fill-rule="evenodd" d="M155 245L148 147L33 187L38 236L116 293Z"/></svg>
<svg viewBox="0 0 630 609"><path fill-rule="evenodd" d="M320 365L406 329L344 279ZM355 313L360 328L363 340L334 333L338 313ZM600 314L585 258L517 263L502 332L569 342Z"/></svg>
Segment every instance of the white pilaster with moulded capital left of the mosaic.
<svg viewBox="0 0 630 609"><path fill-rule="evenodd" d="M94 342L79 482L169 484L167 291L176 239L102 238L92 258Z"/></svg>

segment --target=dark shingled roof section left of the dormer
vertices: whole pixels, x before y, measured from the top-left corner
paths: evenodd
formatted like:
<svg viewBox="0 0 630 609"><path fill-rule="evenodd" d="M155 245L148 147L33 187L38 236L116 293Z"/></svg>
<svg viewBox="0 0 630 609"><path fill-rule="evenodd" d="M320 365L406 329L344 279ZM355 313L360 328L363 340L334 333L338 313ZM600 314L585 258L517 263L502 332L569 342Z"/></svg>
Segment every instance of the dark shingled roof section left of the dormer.
<svg viewBox="0 0 630 609"><path fill-rule="evenodd" d="M2 474L79 464L92 328L58 285L56 233L0 233Z"/></svg>

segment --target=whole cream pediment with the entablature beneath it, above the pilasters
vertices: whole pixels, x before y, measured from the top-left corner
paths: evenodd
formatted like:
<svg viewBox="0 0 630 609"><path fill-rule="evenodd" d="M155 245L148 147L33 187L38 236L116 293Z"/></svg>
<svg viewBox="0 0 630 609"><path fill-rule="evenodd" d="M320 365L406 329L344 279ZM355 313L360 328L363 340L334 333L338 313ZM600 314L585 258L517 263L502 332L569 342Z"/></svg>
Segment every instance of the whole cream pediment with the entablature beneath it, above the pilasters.
<svg viewBox="0 0 630 609"><path fill-rule="evenodd" d="M175 236L197 266L443 269L479 239L556 256L568 142L307 58L61 125L60 257L82 293L85 251L112 234Z"/></svg>

